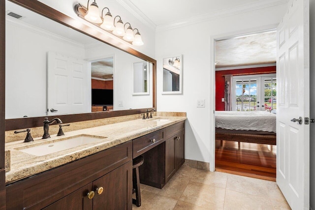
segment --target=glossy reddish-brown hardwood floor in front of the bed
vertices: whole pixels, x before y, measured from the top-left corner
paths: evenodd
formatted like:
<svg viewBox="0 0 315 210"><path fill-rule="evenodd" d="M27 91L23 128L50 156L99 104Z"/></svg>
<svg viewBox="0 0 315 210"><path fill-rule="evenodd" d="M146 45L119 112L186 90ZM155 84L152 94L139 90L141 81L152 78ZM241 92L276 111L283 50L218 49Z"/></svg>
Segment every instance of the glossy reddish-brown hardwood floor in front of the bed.
<svg viewBox="0 0 315 210"><path fill-rule="evenodd" d="M276 180L277 146L216 140L216 171Z"/></svg>

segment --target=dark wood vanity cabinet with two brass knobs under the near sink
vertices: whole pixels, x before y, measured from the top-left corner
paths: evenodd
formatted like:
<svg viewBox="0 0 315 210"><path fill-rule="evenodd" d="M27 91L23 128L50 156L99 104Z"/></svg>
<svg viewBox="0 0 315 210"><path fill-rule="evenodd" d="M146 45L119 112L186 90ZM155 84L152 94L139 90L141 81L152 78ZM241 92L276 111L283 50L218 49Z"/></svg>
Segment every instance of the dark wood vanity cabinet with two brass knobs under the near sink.
<svg viewBox="0 0 315 210"><path fill-rule="evenodd" d="M7 185L6 209L131 210L131 196L130 141Z"/></svg>

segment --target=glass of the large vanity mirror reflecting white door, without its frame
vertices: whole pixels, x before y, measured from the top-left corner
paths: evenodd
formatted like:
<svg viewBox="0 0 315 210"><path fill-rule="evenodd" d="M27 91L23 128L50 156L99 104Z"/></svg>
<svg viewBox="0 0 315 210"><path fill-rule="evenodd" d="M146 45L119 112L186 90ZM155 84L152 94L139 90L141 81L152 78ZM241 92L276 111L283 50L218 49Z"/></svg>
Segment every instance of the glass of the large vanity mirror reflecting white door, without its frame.
<svg viewBox="0 0 315 210"><path fill-rule="evenodd" d="M114 111L153 106L153 94L135 96L136 100L132 94L132 64L144 60L12 2L6 1L5 6L6 10L22 16L16 19L6 15L5 119L91 113L94 103L92 89L113 92L112 102L97 102L103 110L103 105L106 110ZM55 54L53 60L50 60L51 52ZM112 80L111 89L104 84L95 88L95 79L91 80L92 66L100 64L102 60L108 62L106 59L110 57L114 58L112 62L115 67L112 73L115 80ZM55 70L55 76L58 75L56 89L50 88L48 66ZM148 70L152 71L152 63L149 67ZM66 69L73 71L68 74L65 73ZM78 76L85 71L89 73L87 80ZM72 77L71 83L68 83L69 75ZM152 79L150 76L149 80ZM153 90L152 85L148 88ZM55 97L53 105L50 105L52 99L48 96L51 90L54 91L50 95ZM107 96L101 94L99 97ZM79 106L84 106L84 110L77 109ZM67 108L63 110L63 107Z"/></svg>

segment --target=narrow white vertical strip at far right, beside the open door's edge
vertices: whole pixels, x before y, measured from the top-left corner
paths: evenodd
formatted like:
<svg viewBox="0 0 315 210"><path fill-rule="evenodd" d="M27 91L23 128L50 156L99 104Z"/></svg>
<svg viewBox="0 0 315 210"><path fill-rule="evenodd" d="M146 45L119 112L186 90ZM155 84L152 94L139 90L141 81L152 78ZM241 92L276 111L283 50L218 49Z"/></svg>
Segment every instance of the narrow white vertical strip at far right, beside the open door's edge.
<svg viewBox="0 0 315 210"><path fill-rule="evenodd" d="M310 0L310 118L315 119L315 0ZM310 209L315 210L315 123L310 123Z"/></svg>

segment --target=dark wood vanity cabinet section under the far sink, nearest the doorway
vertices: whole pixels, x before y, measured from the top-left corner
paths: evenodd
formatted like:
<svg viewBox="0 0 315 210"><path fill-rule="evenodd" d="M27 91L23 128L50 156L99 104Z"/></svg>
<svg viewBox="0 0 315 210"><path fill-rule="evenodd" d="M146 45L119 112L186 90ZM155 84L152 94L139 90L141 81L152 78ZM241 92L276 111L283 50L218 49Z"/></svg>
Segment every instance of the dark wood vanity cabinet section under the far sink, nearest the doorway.
<svg viewBox="0 0 315 210"><path fill-rule="evenodd" d="M185 162L185 122L166 128L165 181L167 182Z"/></svg>

